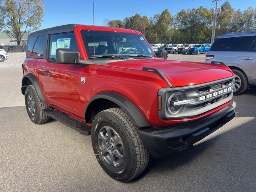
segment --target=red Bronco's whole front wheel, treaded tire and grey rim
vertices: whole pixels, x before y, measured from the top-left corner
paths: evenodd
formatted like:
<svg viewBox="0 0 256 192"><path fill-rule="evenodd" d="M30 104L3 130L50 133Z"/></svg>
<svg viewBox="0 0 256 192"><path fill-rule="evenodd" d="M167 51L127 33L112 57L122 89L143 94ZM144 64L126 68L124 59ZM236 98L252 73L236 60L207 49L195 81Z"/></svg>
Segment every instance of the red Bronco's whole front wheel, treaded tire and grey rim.
<svg viewBox="0 0 256 192"><path fill-rule="evenodd" d="M102 169L112 178L128 182L147 167L149 153L128 115L111 108L96 115L92 147Z"/></svg>

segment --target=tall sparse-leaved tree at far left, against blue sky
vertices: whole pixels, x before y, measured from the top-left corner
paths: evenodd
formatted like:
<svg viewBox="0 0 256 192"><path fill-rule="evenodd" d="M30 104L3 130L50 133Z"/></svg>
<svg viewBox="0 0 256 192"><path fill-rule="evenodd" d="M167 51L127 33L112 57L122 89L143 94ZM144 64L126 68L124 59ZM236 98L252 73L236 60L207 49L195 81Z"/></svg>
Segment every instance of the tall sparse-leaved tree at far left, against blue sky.
<svg viewBox="0 0 256 192"><path fill-rule="evenodd" d="M0 0L0 24L4 32L17 40L41 26L44 4L42 0Z"/></svg>

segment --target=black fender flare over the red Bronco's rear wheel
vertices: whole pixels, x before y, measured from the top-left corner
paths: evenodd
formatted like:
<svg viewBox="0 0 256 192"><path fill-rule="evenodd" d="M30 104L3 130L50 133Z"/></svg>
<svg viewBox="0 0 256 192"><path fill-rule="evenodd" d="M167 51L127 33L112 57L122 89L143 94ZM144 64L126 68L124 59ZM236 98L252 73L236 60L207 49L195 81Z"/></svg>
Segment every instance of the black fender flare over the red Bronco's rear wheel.
<svg viewBox="0 0 256 192"><path fill-rule="evenodd" d="M26 74L23 76L22 78L22 86L21 86L21 92L23 95L25 95L25 90L27 88L27 84L26 84L26 78L28 78L30 80L30 82L32 82L32 84L35 86L36 88L36 92L37 92L37 95L38 97L40 98L40 100L44 103L46 103L46 100L44 98L44 95L42 94L42 91L41 91L41 88L40 88L40 85L38 83L38 80L36 79L36 76L34 76L34 74L32 73L29 73L29 74Z"/></svg>

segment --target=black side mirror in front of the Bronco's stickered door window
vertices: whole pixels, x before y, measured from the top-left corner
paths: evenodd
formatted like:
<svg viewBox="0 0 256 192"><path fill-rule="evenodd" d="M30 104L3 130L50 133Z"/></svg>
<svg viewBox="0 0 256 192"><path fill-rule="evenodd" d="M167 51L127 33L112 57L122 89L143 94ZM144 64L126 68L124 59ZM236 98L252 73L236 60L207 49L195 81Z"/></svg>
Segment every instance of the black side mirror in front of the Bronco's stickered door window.
<svg viewBox="0 0 256 192"><path fill-rule="evenodd" d="M75 64L75 60L80 59L80 54L72 49L57 49L56 58L59 64Z"/></svg>

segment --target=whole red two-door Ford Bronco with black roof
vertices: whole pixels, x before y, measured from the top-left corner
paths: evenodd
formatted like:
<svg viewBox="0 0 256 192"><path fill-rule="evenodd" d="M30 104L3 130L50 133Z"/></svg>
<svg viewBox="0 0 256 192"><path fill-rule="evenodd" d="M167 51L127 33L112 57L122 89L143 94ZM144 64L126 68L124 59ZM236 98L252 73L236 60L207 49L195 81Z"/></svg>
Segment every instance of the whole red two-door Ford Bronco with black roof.
<svg viewBox="0 0 256 192"><path fill-rule="evenodd" d="M69 24L33 32L22 68L32 122L52 117L91 134L100 166L123 182L145 170L149 154L188 148L235 115L228 67L156 58L135 30Z"/></svg>

